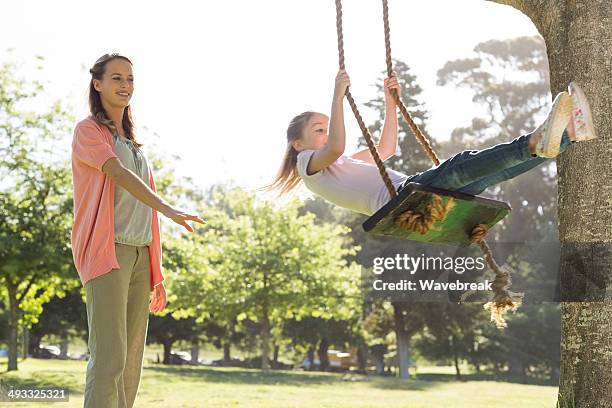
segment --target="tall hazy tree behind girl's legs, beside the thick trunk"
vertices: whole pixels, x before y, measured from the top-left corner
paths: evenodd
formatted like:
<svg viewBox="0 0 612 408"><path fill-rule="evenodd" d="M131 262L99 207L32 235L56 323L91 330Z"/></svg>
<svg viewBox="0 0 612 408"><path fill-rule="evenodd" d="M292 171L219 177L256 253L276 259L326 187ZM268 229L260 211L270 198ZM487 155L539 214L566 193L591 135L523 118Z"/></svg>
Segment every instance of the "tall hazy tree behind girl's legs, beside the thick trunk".
<svg viewBox="0 0 612 408"><path fill-rule="evenodd" d="M442 144L446 157L527 134L550 109L546 47L540 37L485 41L474 48L474 54L449 61L438 71L439 85L468 89L483 112L470 125L453 130L450 140ZM513 208L491 231L496 241L556 239L555 175L551 160L483 193Z"/></svg>

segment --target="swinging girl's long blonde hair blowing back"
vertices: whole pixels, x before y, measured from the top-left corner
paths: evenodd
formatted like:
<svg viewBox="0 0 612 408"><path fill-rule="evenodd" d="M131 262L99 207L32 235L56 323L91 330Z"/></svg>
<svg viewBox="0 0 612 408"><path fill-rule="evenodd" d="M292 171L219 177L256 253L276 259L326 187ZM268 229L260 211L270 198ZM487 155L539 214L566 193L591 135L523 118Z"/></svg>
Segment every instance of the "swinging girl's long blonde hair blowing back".
<svg viewBox="0 0 612 408"><path fill-rule="evenodd" d="M302 136L306 123L308 123L314 113L311 111L300 113L289 123L287 128L287 148L285 149L283 162L278 169L274 181L264 187L265 190L274 190L278 192L278 195L284 195L290 193L300 183L300 175L297 172L298 151L293 148L292 143Z"/></svg>

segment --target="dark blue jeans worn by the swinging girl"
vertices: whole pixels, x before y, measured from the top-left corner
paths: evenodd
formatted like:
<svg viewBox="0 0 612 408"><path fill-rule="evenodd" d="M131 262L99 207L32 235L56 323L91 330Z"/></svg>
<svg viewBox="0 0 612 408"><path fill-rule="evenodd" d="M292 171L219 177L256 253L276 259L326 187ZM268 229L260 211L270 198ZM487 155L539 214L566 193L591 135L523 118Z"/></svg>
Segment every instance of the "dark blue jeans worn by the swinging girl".
<svg viewBox="0 0 612 408"><path fill-rule="evenodd" d="M546 162L547 158L529 153L530 134L484 150L464 150L422 173L414 174L402 184L414 182L448 191L477 195L487 187L509 180ZM561 139L561 152L572 142L567 131Z"/></svg>

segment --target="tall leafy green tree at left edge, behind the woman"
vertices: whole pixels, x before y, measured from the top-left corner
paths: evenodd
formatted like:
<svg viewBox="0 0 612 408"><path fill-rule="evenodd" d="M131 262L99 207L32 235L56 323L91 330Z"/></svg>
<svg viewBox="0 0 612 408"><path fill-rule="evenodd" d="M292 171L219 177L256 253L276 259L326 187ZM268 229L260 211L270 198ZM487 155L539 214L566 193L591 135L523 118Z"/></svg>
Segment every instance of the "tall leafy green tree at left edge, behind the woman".
<svg viewBox="0 0 612 408"><path fill-rule="evenodd" d="M59 102L28 109L43 87L17 78L16 70L0 66L0 291L9 310L9 371L17 370L19 326L30 326L56 293L79 285L70 250L70 172L57 146L70 117Z"/></svg>

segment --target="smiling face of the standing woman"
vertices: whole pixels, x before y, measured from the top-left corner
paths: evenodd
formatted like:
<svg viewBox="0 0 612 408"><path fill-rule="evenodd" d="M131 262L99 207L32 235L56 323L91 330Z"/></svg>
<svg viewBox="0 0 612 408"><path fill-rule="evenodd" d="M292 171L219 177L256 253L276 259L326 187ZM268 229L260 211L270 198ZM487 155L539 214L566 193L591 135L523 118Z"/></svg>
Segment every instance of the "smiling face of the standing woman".
<svg viewBox="0 0 612 408"><path fill-rule="evenodd" d="M94 79L93 85L103 104L114 108L127 107L134 93L132 64L122 58L110 60L102 79Z"/></svg>

